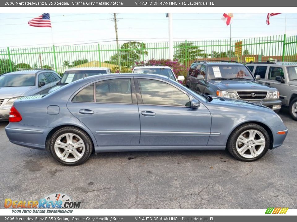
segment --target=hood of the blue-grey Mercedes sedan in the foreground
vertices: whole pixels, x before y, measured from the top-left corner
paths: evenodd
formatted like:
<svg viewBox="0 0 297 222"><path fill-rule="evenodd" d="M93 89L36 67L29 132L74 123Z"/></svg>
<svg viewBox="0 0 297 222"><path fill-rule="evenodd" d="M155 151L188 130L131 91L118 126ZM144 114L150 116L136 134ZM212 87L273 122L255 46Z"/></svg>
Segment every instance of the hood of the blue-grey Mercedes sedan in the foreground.
<svg viewBox="0 0 297 222"><path fill-rule="evenodd" d="M236 100L236 99L230 99L225 97L212 97L213 100L209 102L209 104L219 106L234 106L234 107L243 107L244 109L254 109L256 110L265 110L265 111L271 111L274 113L272 109L269 109L268 107L248 101L243 100Z"/></svg>

